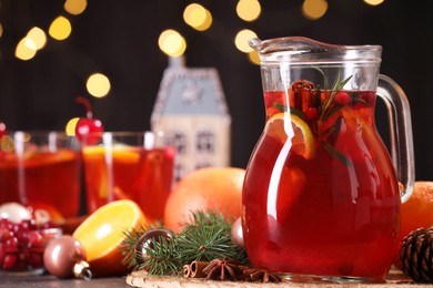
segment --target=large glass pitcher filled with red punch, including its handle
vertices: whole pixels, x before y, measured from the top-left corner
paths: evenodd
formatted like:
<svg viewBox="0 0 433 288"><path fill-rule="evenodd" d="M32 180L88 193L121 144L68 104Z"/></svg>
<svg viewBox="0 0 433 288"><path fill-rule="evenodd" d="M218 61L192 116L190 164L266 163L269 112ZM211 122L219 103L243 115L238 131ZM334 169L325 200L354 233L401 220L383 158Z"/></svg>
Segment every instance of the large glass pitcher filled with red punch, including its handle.
<svg viewBox="0 0 433 288"><path fill-rule="evenodd" d="M252 265L290 277L383 280L414 182L410 106L380 75L379 45L250 40L266 124L246 167L242 228ZM391 155L374 123L390 120Z"/></svg>

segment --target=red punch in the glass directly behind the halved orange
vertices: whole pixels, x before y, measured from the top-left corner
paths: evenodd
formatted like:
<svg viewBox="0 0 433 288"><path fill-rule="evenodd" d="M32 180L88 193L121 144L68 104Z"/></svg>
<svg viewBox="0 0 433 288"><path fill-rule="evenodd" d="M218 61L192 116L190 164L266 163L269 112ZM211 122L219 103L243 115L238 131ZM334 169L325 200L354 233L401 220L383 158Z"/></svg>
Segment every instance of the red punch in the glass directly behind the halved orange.
<svg viewBox="0 0 433 288"><path fill-rule="evenodd" d="M110 141L107 135L112 135ZM104 133L103 145L83 148L89 213L109 202L128 198L139 204L150 222L163 218L172 186L175 148L124 142L133 138L138 143L143 141L142 135L135 133L115 140L115 133Z"/></svg>

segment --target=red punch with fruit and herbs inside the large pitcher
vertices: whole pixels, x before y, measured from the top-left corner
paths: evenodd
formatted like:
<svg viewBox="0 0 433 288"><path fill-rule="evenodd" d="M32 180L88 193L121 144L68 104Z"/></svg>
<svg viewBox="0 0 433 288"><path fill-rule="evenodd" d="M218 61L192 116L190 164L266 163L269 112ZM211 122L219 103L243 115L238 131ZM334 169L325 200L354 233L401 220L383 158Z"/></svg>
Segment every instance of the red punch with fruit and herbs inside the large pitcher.
<svg viewBox="0 0 433 288"><path fill-rule="evenodd" d="M384 278L396 251L400 197L373 124L375 93L302 86L264 99L268 123L243 195L251 263L273 271Z"/></svg>

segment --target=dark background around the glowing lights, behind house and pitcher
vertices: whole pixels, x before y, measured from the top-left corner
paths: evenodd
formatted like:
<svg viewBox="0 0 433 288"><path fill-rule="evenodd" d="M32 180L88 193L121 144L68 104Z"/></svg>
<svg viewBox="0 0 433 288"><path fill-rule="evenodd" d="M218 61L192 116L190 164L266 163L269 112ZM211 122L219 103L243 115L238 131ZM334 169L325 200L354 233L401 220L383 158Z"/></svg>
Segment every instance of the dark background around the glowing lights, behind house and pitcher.
<svg viewBox="0 0 433 288"><path fill-rule="evenodd" d="M188 66L218 69L232 115L232 165L245 167L263 128L260 70L233 43L235 33L251 29L259 38L303 35L338 44L380 44L381 72L405 91L411 109L416 179L433 179L433 17L426 1L385 0L377 7L362 0L329 0L323 18L305 19L301 0L262 0L255 22L238 18L238 0L197 0L213 16L213 24L198 32L183 22L180 0L89 0L80 16L70 16L60 0L1 0L0 120L9 130L63 130L83 116L77 95L85 95L85 80L105 74L111 92L92 99L93 112L105 130L148 130L168 58L158 48L169 28L188 42ZM30 61L13 56L30 28L44 31L59 14L72 23L66 41L50 39ZM376 122L386 142L387 122L377 109Z"/></svg>

